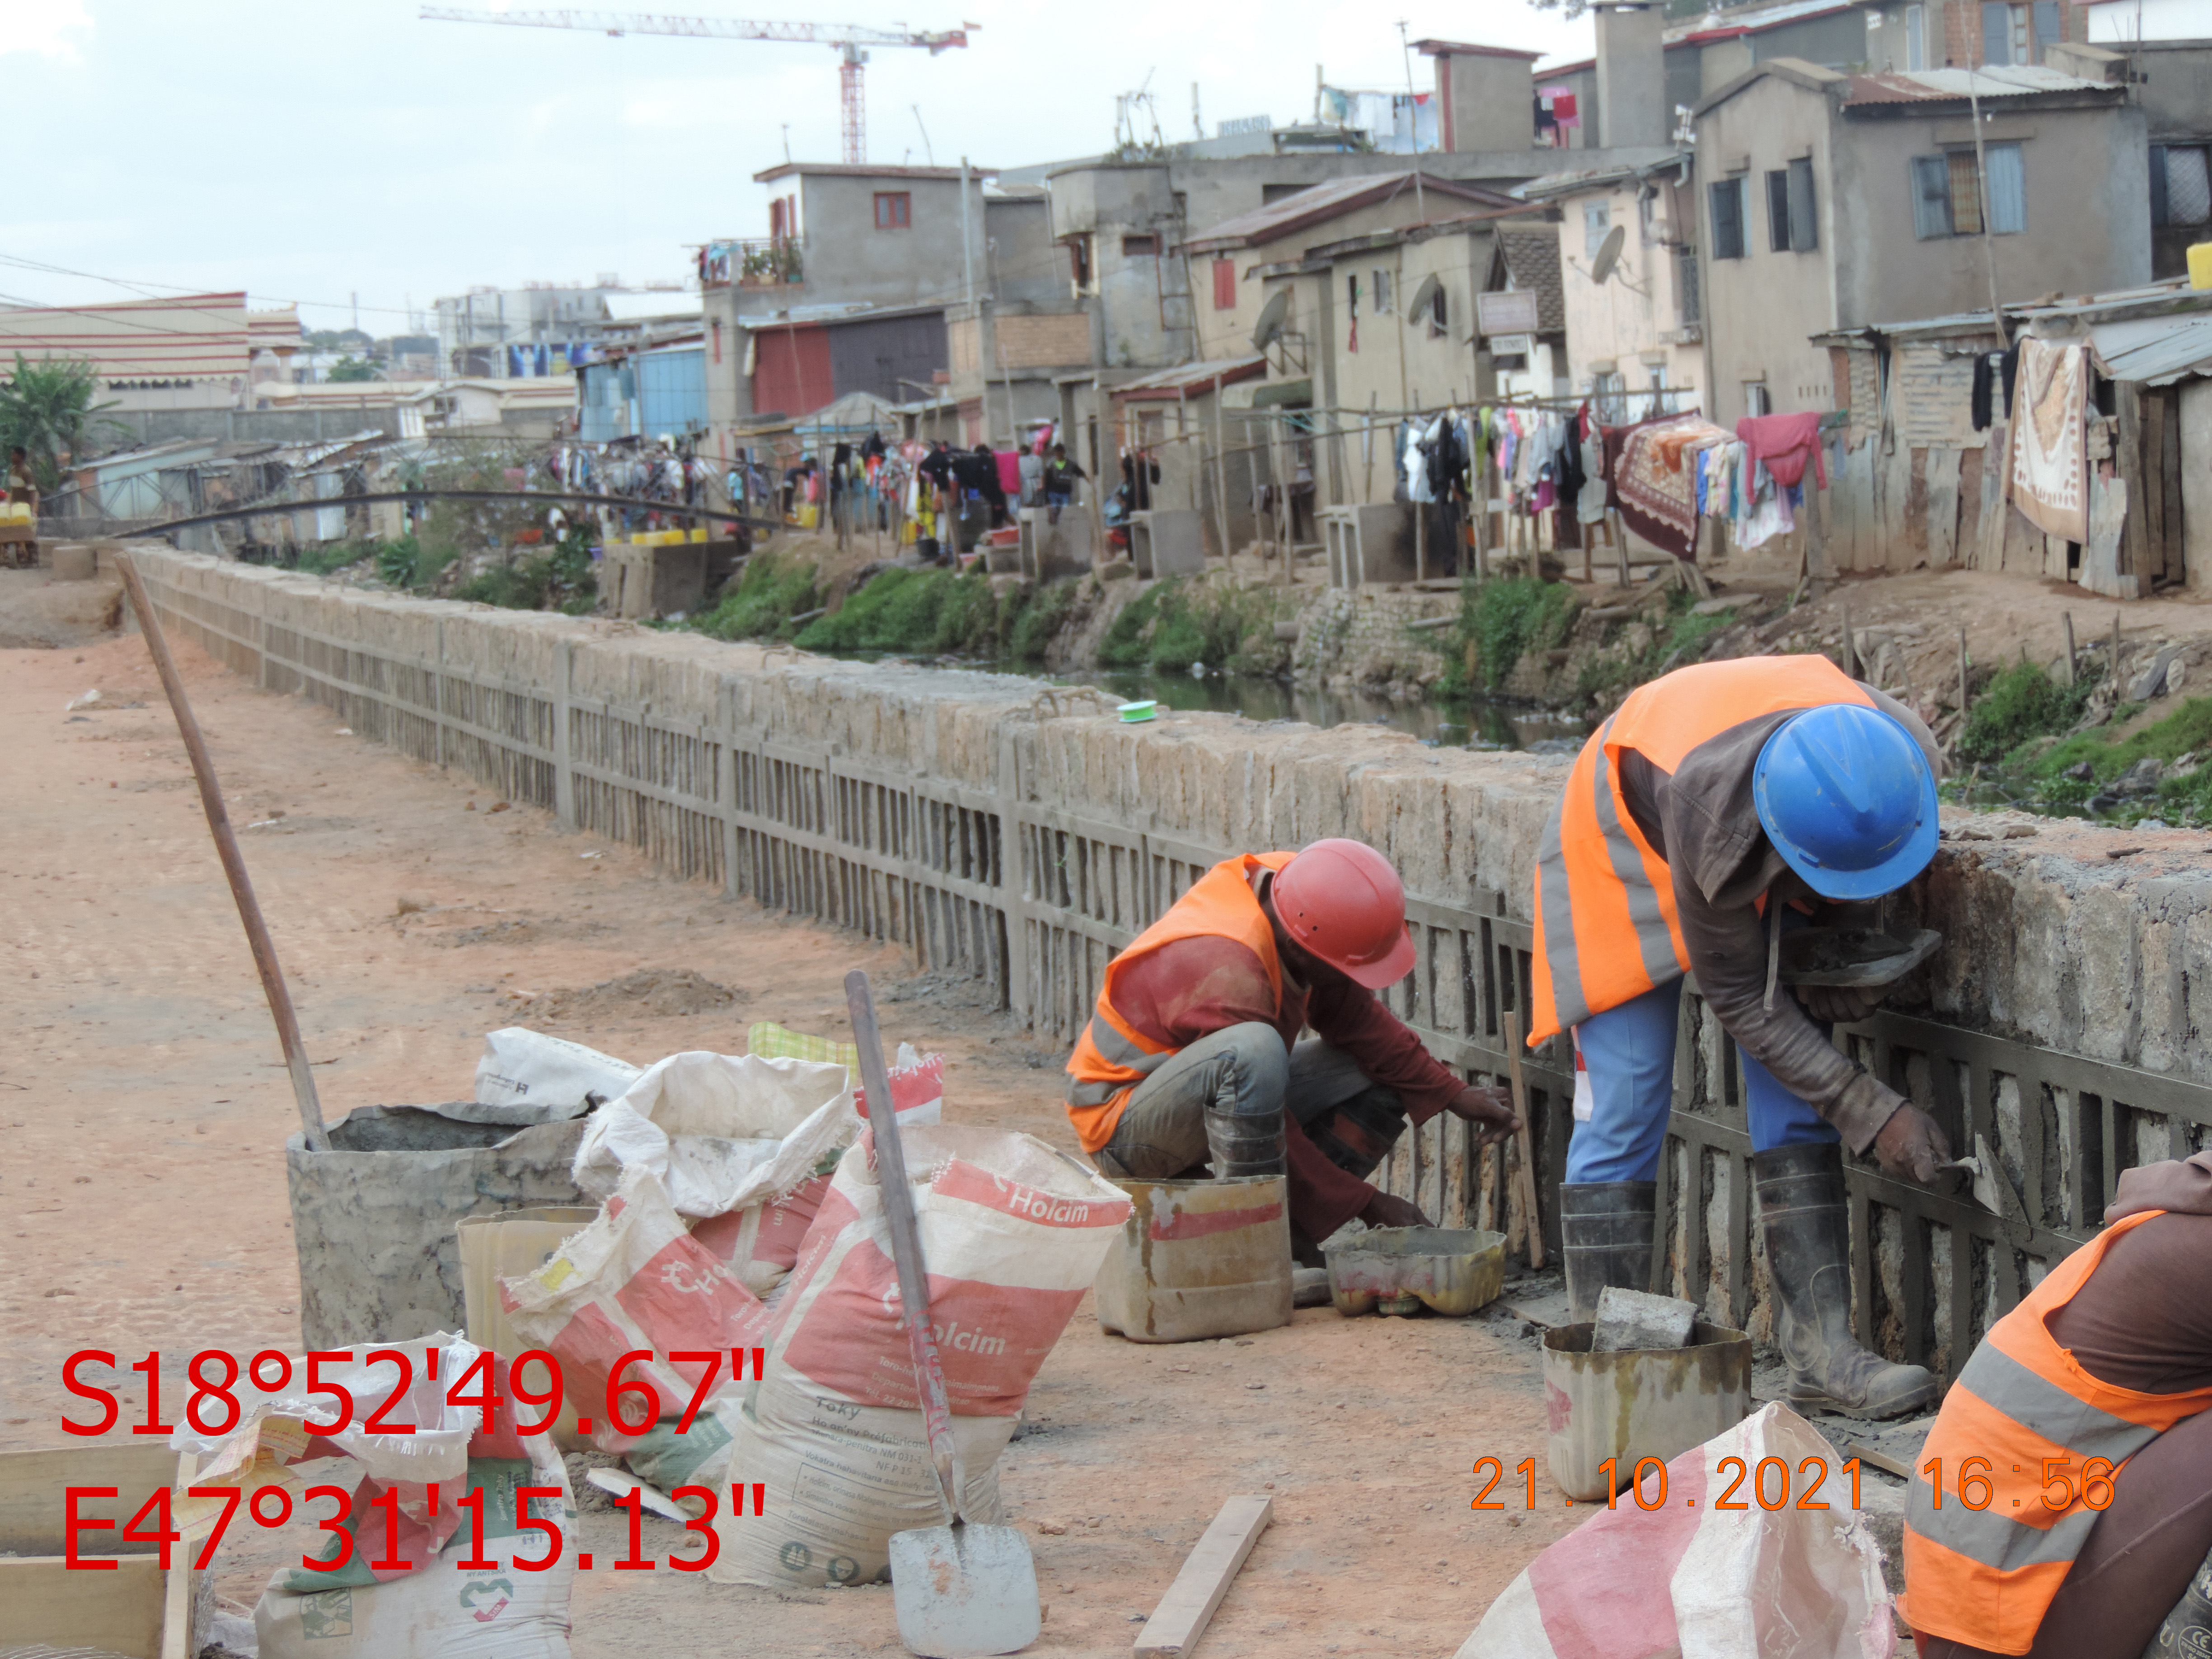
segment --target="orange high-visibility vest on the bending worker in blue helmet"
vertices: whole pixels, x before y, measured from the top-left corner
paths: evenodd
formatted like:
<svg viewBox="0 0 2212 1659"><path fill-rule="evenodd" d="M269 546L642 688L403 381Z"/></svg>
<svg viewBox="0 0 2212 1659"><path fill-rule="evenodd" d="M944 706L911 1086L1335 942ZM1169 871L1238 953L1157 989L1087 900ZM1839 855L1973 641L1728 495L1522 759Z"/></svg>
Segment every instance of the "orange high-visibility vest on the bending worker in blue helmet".
<svg viewBox="0 0 2212 1659"><path fill-rule="evenodd" d="M1827 657L1739 657L1637 686L1590 734L1537 847L1531 1048L1690 971L1666 858L1621 796L1621 752L1672 774L1708 737L1825 703L1874 708Z"/></svg>

